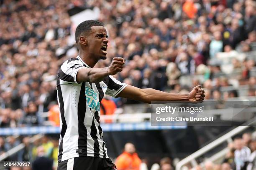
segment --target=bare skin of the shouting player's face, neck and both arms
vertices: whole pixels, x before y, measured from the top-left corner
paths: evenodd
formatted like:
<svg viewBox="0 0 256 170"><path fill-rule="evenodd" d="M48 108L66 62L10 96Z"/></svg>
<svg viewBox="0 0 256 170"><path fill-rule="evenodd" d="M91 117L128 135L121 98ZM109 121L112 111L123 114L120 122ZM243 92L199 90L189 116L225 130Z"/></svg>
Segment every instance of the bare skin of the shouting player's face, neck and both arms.
<svg viewBox="0 0 256 170"><path fill-rule="evenodd" d="M83 68L77 72L77 81L100 82L109 75L115 75L123 70L125 59L114 57L110 66L105 68L93 68L98 60L106 59L107 53L102 51L102 46L108 44L108 36L105 27L93 26L87 35L80 35L77 46L79 56L91 68ZM188 101L202 102L205 91L200 85L193 88L188 94L167 93L155 89L140 89L127 85L117 97L125 97L131 100L151 103L151 101Z"/></svg>

